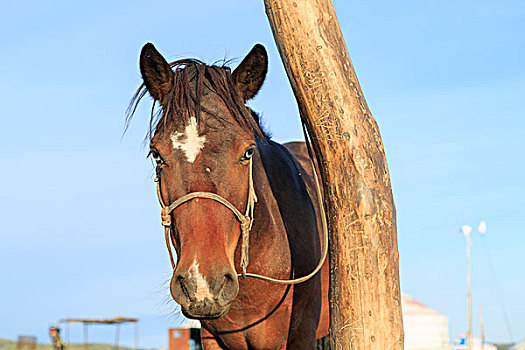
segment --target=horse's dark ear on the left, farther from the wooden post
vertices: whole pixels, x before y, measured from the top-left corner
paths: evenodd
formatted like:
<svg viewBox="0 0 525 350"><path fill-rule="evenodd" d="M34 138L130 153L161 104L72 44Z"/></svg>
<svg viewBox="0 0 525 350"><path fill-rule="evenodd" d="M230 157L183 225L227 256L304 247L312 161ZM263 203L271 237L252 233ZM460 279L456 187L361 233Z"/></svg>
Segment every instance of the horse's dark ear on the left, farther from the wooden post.
<svg viewBox="0 0 525 350"><path fill-rule="evenodd" d="M140 73L151 96L162 101L173 85L173 71L151 43L144 45L140 52Z"/></svg>

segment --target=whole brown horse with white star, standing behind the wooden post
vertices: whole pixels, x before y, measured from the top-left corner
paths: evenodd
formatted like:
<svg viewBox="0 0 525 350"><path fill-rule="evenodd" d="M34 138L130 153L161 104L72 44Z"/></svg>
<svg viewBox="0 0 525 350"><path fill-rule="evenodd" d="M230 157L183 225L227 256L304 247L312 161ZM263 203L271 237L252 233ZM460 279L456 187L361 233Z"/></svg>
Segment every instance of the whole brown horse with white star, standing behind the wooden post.
<svg viewBox="0 0 525 350"><path fill-rule="evenodd" d="M304 144L271 141L245 106L267 67L261 45L231 72L193 59L168 64L146 44L144 84L132 106L146 91L160 105L149 136L161 202L207 192L242 210L253 183L247 270L289 279L319 262L319 201ZM171 295L186 317L200 320L205 349L313 349L328 334L327 262L297 285L243 278L242 225L225 205L192 198L164 212L163 221L177 255Z"/></svg>

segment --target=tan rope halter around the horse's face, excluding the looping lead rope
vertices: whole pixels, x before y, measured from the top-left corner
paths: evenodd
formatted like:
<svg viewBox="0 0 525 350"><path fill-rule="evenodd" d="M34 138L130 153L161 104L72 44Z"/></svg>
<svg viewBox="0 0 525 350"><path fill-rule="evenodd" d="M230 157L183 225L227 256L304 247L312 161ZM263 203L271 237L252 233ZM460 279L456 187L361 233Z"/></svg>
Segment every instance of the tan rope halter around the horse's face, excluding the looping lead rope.
<svg viewBox="0 0 525 350"><path fill-rule="evenodd" d="M173 253L171 251L171 212L173 212L177 207L182 204L189 202L195 198L208 198L213 199L216 202L221 203L226 208L235 215L235 218L241 224L241 236L242 236L242 246L241 246L241 269L242 273L238 276L246 277L246 268L248 267L248 248L250 240L250 230L253 225L253 210L255 209L255 203L257 202L257 196L255 194L255 189L253 187L253 161L252 158L249 160L249 172L248 172L248 199L246 201L246 212L242 214L233 204L231 204L225 198L219 196L216 193L211 192L191 192L188 193L169 206L164 204L162 200L162 193L160 192L160 171L157 172L157 177L155 182L157 183L157 196L159 197L160 206L162 207L161 218L162 226L164 226L164 234L166 236L166 246L170 254L171 267L175 269L175 261L173 260Z"/></svg>

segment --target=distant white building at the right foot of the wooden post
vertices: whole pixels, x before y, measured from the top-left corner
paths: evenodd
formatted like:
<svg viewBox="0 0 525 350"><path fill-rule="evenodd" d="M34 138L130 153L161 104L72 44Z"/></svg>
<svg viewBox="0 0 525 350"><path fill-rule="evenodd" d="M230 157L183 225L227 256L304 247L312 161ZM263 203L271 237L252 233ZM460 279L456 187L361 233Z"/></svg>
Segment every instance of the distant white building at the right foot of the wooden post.
<svg viewBox="0 0 525 350"><path fill-rule="evenodd" d="M405 350L450 350L447 316L406 294L401 303Z"/></svg>

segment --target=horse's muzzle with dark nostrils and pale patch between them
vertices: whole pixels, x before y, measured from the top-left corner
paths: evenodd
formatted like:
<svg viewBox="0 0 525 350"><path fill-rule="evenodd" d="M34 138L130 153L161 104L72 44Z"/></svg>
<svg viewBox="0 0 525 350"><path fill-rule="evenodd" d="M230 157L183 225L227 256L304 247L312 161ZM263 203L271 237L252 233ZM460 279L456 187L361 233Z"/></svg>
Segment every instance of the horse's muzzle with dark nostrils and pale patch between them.
<svg viewBox="0 0 525 350"><path fill-rule="evenodd" d="M226 315L239 292L237 274L226 272L205 279L192 266L186 273L175 273L171 295L182 307L184 316L193 319L216 319Z"/></svg>

